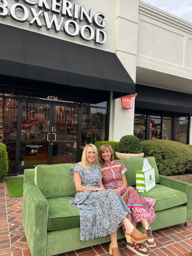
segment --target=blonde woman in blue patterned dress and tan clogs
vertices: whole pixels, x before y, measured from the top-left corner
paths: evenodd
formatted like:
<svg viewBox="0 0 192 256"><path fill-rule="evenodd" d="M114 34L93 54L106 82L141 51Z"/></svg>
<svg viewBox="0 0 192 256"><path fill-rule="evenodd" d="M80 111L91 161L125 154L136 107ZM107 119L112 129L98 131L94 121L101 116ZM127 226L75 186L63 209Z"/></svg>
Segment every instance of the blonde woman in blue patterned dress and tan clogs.
<svg viewBox="0 0 192 256"><path fill-rule="evenodd" d="M70 169L77 193L70 204L75 205L80 216L80 240L110 235L109 253L121 255L118 250L116 230L123 223L126 239L146 241L147 235L140 233L126 218L131 212L114 190L105 190L101 181L102 169L98 163L97 148L86 145L82 161Z"/></svg>

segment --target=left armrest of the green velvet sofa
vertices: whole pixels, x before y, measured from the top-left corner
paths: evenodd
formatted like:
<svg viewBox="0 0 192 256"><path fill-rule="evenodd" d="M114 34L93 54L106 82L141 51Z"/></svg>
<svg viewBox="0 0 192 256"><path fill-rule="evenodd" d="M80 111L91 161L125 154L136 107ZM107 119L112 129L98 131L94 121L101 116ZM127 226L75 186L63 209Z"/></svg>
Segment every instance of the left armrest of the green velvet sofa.
<svg viewBox="0 0 192 256"><path fill-rule="evenodd" d="M23 185L22 225L31 256L46 256L48 203L33 182Z"/></svg>

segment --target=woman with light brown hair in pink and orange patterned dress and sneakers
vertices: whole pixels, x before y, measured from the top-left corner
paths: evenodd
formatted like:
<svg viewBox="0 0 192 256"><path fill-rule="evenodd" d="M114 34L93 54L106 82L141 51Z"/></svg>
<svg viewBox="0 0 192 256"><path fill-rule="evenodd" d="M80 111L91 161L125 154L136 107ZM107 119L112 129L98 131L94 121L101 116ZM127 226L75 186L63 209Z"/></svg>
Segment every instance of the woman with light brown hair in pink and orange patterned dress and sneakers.
<svg viewBox="0 0 192 256"><path fill-rule="evenodd" d="M114 150L109 144L101 145L99 149L99 163L102 168L102 183L105 189L114 189L119 194L127 207L131 210L132 214L128 217L129 220L136 227L137 222L141 222L144 233L147 234L148 239L146 245L148 247L155 246L155 239L149 227L156 214L153 210L155 199L148 197L140 197L137 191L127 186L125 172L127 171L123 163L113 161ZM124 227L123 227L124 229ZM127 248L135 252L135 242L127 244ZM136 248L139 255L148 255L146 250L143 251L142 245L138 244Z"/></svg>

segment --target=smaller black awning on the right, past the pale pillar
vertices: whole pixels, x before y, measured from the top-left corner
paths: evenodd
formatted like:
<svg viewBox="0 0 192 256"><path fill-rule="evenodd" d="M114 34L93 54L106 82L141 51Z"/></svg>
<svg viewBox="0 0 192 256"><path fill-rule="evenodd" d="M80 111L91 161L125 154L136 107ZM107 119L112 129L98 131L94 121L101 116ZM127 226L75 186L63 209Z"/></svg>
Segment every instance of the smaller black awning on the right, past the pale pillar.
<svg viewBox="0 0 192 256"><path fill-rule="evenodd" d="M192 113L192 94L136 84L135 108Z"/></svg>

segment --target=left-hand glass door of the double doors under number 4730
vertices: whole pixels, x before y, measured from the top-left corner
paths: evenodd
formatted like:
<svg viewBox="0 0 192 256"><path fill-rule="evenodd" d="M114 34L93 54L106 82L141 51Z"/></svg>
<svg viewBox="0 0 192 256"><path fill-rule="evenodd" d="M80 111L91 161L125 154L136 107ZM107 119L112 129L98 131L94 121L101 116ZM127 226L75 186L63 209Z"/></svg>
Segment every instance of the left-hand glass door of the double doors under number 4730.
<svg viewBox="0 0 192 256"><path fill-rule="evenodd" d="M47 164L50 110L50 104L22 103L20 166Z"/></svg>

